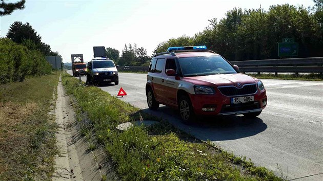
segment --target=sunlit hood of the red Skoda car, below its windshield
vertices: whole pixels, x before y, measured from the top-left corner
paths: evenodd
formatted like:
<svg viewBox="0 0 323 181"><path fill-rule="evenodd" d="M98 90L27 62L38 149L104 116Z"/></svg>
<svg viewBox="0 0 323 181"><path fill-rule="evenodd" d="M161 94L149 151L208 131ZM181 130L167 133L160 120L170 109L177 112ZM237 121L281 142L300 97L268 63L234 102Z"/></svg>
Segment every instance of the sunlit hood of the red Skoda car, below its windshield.
<svg viewBox="0 0 323 181"><path fill-rule="evenodd" d="M249 84L256 83L258 79L247 76L245 74L218 74L209 76L185 77L184 81L191 82L196 85L206 86L224 86L224 85L237 85L237 83Z"/></svg>

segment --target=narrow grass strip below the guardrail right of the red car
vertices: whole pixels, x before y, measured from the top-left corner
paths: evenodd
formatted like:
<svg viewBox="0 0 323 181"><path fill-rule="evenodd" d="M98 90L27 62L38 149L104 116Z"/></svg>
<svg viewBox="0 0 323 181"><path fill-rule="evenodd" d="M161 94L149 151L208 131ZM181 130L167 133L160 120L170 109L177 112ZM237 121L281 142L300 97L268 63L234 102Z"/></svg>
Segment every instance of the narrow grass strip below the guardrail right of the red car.
<svg viewBox="0 0 323 181"><path fill-rule="evenodd" d="M310 81L322 81L323 76L320 74L248 74L249 76L259 79L284 79L284 80L310 80Z"/></svg>

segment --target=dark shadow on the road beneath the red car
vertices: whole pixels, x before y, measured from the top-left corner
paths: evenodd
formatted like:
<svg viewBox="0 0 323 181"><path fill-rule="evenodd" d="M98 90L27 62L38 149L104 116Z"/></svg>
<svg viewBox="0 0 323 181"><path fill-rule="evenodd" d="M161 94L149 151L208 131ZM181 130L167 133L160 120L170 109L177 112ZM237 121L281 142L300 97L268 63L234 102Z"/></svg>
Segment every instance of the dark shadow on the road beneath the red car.
<svg viewBox="0 0 323 181"><path fill-rule="evenodd" d="M246 119L244 116L201 117L189 125L183 124L178 111L169 107L159 107L157 111L143 111L168 120L175 127L192 134L203 141L225 141L251 137L267 129L260 118Z"/></svg>

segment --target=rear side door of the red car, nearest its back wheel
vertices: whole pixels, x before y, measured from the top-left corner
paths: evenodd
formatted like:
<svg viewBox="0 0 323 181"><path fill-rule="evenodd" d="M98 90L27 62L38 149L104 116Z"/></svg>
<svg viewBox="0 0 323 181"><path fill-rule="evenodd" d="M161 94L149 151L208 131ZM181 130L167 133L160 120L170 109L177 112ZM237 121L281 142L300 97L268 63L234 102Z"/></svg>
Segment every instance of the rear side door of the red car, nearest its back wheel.
<svg viewBox="0 0 323 181"><path fill-rule="evenodd" d="M152 60L154 61L154 60ZM154 63L154 62L152 62ZM155 99L160 101L163 100L163 74L164 74L164 66L165 66L165 58L158 58L156 60L155 69L150 72L148 79L150 79L152 83L152 88L155 94Z"/></svg>

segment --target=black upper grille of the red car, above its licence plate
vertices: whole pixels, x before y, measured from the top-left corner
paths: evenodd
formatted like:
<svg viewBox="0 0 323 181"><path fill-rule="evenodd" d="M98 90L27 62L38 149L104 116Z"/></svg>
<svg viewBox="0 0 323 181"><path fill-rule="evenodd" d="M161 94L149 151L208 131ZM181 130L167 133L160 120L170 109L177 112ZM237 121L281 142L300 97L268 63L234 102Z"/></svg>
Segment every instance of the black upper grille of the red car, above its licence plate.
<svg viewBox="0 0 323 181"><path fill-rule="evenodd" d="M218 87L220 92L225 96L240 96L240 95L250 95L255 94L257 92L257 85L244 85L241 88L237 88L235 86L226 86L226 87Z"/></svg>

